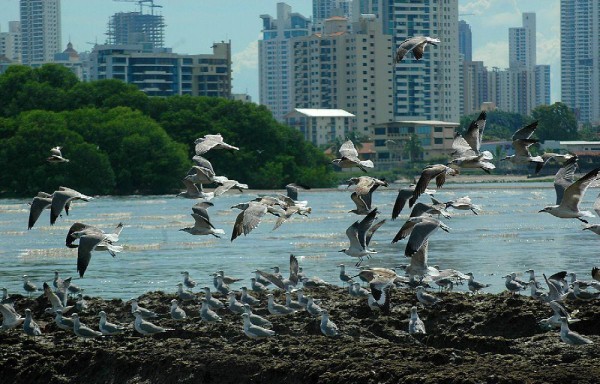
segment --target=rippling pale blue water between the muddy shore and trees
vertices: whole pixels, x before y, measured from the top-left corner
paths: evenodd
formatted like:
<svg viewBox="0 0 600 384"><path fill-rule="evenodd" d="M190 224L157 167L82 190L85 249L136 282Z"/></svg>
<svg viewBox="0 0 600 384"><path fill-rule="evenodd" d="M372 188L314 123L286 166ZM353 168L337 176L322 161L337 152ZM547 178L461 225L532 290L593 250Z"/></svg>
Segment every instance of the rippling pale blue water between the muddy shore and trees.
<svg viewBox="0 0 600 384"><path fill-rule="evenodd" d="M375 193L380 217L388 221L371 241L378 254L364 264L394 267L408 261L403 255L406 240L391 244L408 214L405 208L398 220L391 220L396 193L397 188L380 188ZM595 194L588 191L582 208L591 210ZM63 214L54 226L49 225L49 211L44 212L30 231L27 201L0 200L0 286L23 293L23 274L41 287L58 270L63 278L73 276L73 283L85 288L87 295L129 299L149 290L175 292L183 270L202 285L211 285L209 275L219 269L246 278L249 285L254 269L278 265L285 272L290 253L299 256L308 276L338 284L337 265L345 263L353 272L356 263L338 252L347 246L346 228L359 218L348 213L354 208L349 195L345 190L304 191L300 197L313 208L310 217L295 216L272 231L275 218L267 216L252 233L233 242L229 237L239 211L230 207L253 194L231 193L213 200L215 206L209 213L213 224L226 232L221 239L178 231L193 224L189 214L194 200L172 196L98 197L89 203L77 202L70 215ZM533 268L541 277L542 272L566 269L587 279L591 267L600 264L598 235L582 231L578 220L537 213L554 202L552 183L447 184L435 196L447 201L465 195L482 211L478 216L454 211L451 219L444 220L452 230L433 235L431 265L473 272L476 280L492 284L488 291L500 292L505 289L501 276L513 271ZM420 201L429 202L427 196ZM119 221L125 223L120 238L125 250L115 258L94 252L83 279L76 277L77 250L64 245L75 221L105 230Z"/></svg>

